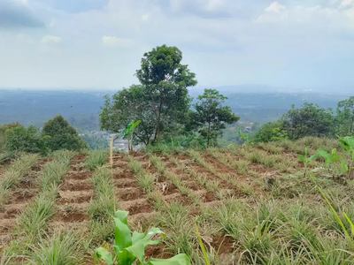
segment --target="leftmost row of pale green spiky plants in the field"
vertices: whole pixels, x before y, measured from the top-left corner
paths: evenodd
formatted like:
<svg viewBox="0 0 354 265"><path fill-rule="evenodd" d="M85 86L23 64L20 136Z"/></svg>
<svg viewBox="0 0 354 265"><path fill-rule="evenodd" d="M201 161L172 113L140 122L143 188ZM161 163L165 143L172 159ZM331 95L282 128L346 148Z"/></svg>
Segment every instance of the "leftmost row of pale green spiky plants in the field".
<svg viewBox="0 0 354 265"><path fill-rule="evenodd" d="M39 160L39 155L21 155L12 165L4 172L4 176L0 179L0 208L4 207L5 202L12 193L12 188L19 184L23 178Z"/></svg>

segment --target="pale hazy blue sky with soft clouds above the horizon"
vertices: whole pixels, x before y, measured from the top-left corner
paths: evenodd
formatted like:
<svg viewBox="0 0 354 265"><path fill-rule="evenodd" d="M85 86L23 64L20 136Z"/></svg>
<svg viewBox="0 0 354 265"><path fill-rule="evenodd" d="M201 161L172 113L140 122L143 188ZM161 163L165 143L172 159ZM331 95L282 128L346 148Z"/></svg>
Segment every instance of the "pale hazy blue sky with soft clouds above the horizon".
<svg viewBox="0 0 354 265"><path fill-rule="evenodd" d="M0 87L127 87L162 44L201 86L350 89L354 0L0 0Z"/></svg>

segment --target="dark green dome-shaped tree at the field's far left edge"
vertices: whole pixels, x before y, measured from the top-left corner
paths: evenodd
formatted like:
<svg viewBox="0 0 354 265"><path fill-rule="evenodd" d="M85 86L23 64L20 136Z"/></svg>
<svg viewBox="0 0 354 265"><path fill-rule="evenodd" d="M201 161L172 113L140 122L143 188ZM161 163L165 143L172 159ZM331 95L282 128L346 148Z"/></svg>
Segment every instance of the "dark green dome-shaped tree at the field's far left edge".
<svg viewBox="0 0 354 265"><path fill-rule="evenodd" d="M42 135L50 136L49 148L52 151L67 149L67 150L80 150L88 148L85 141L81 140L76 129L69 125L69 123L58 115L50 119L42 129Z"/></svg>

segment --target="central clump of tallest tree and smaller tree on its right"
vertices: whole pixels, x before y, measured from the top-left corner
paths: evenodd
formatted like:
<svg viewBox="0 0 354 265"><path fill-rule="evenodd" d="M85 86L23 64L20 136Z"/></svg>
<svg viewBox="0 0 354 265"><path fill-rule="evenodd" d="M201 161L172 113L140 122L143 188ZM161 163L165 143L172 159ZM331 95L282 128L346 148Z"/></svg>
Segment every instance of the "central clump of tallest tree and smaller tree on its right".
<svg viewBox="0 0 354 265"><path fill-rule="evenodd" d="M145 53L136 71L140 84L105 97L101 129L119 133L132 120L140 120L133 140L146 145L160 145L161 140L173 145L173 139L196 138L196 133L209 145L222 135L225 124L235 123L238 117L224 106L227 98L212 89L198 97L196 111L190 110L188 87L196 86L196 75L181 60L176 47L163 45Z"/></svg>

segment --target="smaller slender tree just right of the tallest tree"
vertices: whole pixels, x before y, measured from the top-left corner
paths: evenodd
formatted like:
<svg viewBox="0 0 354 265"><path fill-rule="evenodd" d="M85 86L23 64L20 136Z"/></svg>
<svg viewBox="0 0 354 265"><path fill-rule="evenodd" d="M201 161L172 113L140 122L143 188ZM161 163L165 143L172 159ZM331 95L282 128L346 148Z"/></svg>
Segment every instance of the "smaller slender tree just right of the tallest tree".
<svg viewBox="0 0 354 265"><path fill-rule="evenodd" d="M209 147L211 140L222 136L226 124L234 124L240 117L236 117L229 106L223 106L227 97L220 95L216 89L205 89L204 94L199 95L197 99L199 102L194 104L196 111L190 112L190 118Z"/></svg>

